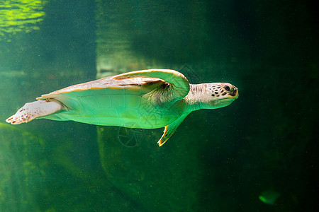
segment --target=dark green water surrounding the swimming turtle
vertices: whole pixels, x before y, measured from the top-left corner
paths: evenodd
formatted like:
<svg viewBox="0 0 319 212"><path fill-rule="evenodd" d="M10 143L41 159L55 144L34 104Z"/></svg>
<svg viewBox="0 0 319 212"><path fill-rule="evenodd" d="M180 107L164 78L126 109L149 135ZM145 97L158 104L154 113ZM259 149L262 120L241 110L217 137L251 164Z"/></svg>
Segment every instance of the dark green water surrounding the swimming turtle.
<svg viewBox="0 0 319 212"><path fill-rule="evenodd" d="M0 211L315 211L315 1L0 2ZM228 107L163 129L5 119L126 71L228 82ZM317 139L316 139L317 138Z"/></svg>

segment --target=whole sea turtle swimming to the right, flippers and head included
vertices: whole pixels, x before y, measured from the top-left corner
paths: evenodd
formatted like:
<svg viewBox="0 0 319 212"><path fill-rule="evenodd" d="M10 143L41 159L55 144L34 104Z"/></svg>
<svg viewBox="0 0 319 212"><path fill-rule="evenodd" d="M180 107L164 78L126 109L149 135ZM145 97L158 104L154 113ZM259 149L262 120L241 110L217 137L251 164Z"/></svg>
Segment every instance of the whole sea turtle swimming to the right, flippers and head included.
<svg viewBox="0 0 319 212"><path fill-rule="evenodd" d="M162 146L192 111L225 107L237 98L238 90L230 83L189 84L178 71L149 69L41 95L6 122L44 118L141 129L165 127L157 142Z"/></svg>

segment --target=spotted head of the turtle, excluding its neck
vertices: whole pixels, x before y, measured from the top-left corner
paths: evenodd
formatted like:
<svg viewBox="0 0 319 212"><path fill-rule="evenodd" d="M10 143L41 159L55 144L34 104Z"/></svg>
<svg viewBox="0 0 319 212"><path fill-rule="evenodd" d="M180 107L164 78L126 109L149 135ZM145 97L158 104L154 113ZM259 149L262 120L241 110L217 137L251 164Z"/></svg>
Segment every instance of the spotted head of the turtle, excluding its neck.
<svg viewBox="0 0 319 212"><path fill-rule="evenodd" d="M238 89L230 83L206 83L202 84L203 89L203 105L202 108L216 109L230 105L238 98Z"/></svg>

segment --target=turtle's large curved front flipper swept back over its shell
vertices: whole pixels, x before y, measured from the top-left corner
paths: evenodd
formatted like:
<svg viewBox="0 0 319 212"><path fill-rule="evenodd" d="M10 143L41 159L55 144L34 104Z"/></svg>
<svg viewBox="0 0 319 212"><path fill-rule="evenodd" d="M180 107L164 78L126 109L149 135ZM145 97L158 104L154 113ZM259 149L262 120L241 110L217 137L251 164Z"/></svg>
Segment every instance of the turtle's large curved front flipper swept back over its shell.
<svg viewBox="0 0 319 212"><path fill-rule="evenodd" d="M169 101L181 100L189 93L189 81L187 78L178 71L170 69L148 69L142 71L131 71L113 76L113 79L121 80L123 78L131 77L151 77L160 78L163 81L172 85L174 90L173 95L168 97ZM169 95L169 93L167 93Z"/></svg>

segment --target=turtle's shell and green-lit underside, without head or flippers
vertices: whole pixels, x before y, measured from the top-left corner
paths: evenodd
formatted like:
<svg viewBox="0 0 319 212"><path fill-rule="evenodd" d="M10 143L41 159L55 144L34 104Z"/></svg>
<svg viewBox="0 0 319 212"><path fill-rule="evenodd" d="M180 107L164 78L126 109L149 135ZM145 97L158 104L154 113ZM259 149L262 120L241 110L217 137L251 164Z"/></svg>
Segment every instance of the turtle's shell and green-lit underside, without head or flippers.
<svg viewBox="0 0 319 212"><path fill-rule="evenodd" d="M150 101L165 83L160 78L109 76L41 95L37 100L55 99L65 105L66 110L43 117L46 119L150 129L176 119L163 117L158 105Z"/></svg>

